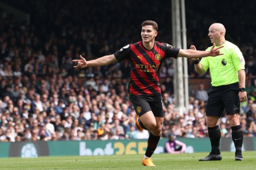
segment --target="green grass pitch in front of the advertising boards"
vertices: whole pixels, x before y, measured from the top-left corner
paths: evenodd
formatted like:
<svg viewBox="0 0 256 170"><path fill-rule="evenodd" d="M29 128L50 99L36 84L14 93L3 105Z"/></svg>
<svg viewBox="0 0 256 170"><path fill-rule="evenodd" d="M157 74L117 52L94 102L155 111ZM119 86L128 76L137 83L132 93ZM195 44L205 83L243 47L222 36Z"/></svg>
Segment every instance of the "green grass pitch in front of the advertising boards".
<svg viewBox="0 0 256 170"><path fill-rule="evenodd" d="M0 170L253 170L256 151L243 152L244 161L235 161L234 152L222 152L221 161L198 161L209 153L154 154L156 167L144 167L143 155L47 156L1 158Z"/></svg>

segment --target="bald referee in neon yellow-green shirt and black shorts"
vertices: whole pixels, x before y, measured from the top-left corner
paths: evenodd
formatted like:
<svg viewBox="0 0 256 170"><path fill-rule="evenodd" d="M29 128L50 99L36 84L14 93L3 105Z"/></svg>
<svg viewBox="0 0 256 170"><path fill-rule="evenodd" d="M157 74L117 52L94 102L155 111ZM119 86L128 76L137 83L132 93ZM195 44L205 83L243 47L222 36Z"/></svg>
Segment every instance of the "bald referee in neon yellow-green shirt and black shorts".
<svg viewBox="0 0 256 170"><path fill-rule="evenodd" d="M221 23L214 23L209 27L209 38L223 55L205 57L201 61L192 59L198 74L204 74L209 68L212 88L208 91L206 105L206 123L212 150L208 156L199 161L220 161L221 131L218 120L226 110L228 122L232 129L232 139L236 147L235 160L243 161L241 149L243 144L243 131L239 122L240 102L247 100L245 92L244 57L240 49L233 43L225 40L226 29ZM194 45L191 49L196 50ZM209 51L211 47L207 48Z"/></svg>

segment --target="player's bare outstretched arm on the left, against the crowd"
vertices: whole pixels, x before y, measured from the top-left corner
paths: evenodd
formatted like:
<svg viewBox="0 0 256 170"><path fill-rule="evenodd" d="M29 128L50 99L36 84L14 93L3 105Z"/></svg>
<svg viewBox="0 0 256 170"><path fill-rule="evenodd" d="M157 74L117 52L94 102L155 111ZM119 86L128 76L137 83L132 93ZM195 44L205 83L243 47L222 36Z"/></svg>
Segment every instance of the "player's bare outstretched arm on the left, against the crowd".
<svg viewBox="0 0 256 170"><path fill-rule="evenodd" d="M85 68L109 65L113 62L117 62L117 59L113 54L111 54L108 56L103 56L97 59L86 61L86 59L80 55L80 59L73 59L72 61L77 62L77 65L75 65L74 68Z"/></svg>

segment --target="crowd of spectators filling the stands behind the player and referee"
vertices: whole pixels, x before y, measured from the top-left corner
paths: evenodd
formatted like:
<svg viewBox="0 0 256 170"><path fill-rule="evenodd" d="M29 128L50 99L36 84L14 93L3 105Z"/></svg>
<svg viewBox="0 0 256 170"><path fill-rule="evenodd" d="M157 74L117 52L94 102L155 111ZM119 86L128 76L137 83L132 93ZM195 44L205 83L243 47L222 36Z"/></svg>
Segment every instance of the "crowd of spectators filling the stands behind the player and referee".
<svg viewBox="0 0 256 170"><path fill-rule="evenodd" d="M129 1L117 1L118 8L110 5L111 0L102 4L93 0L29 2L17 2L19 7L33 9L29 25L18 22L12 14L0 18L0 141L148 139L147 130L140 132L135 127L136 113L126 94L129 63L77 69L73 68L72 59L78 59L80 54L88 60L113 54L128 43L140 41L140 23L148 18L159 23L157 40L172 44L168 31L171 22L165 23L165 16L170 16L170 4L145 3L143 9L152 8L156 17L145 15L141 7L132 6ZM235 8L237 3L229 5ZM241 13L246 15L247 11ZM206 49L207 30L212 21L193 8L187 14L196 17L187 21L188 45ZM206 23L199 25L201 18ZM235 42L244 54L249 99L241 105L240 120L244 136L256 136L256 35L251 28L255 28L256 20L251 20L249 27L245 19L239 20L244 24L227 29L227 39ZM200 85L201 93L198 90L198 94L189 97L189 111L180 113L173 98L172 63L172 59L166 60L160 71L165 113L161 135L205 137L204 87ZM198 78L192 60L188 66L189 77ZM221 134L230 137L231 127L226 123L223 113Z"/></svg>

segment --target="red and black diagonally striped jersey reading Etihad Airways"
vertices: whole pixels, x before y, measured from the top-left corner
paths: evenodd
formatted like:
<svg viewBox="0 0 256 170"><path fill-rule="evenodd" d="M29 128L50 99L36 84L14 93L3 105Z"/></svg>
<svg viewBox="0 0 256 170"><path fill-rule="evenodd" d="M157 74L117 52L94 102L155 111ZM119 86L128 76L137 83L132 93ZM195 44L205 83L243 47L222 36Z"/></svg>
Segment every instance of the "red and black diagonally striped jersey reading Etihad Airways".
<svg viewBox="0 0 256 170"><path fill-rule="evenodd" d="M180 48L167 43L154 42L151 50L143 46L142 41L129 44L117 51L114 56L121 62L131 63L131 78L128 84L129 95L161 95L159 71L166 57L174 57Z"/></svg>

